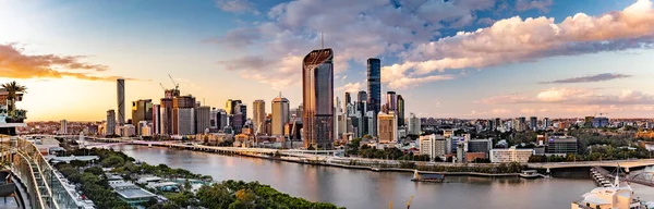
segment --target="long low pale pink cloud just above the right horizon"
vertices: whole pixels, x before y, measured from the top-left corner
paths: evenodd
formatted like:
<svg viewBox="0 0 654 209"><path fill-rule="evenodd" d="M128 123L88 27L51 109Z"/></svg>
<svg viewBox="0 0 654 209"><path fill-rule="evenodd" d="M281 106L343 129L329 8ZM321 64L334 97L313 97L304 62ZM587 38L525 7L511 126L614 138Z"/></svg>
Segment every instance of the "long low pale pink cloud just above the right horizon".
<svg viewBox="0 0 654 209"><path fill-rule="evenodd" d="M548 88L535 95L508 94L481 99L485 104L559 103L574 106L633 106L654 104L654 95L640 90L625 89L618 94L602 93L589 88Z"/></svg>

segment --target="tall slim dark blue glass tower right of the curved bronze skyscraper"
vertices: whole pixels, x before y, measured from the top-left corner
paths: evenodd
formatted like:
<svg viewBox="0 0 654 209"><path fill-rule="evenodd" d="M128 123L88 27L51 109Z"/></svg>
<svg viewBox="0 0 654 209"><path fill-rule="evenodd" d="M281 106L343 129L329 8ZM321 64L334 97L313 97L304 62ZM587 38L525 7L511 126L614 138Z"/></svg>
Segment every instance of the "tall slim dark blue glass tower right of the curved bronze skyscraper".
<svg viewBox="0 0 654 209"><path fill-rule="evenodd" d="M367 60L367 103L375 114L382 109L382 61L376 58Z"/></svg>

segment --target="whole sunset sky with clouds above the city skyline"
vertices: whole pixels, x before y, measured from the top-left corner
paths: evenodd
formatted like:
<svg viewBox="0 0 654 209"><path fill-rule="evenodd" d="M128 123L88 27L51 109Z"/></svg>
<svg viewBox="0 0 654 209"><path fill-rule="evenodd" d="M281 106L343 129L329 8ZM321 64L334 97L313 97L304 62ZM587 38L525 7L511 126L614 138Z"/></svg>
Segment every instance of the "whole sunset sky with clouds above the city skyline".
<svg viewBox="0 0 654 209"><path fill-rule="evenodd" d="M104 120L118 77L158 103L169 74L204 104L270 112L301 103L320 34L341 100L379 58L383 95L417 116L654 115L651 0L3 0L0 83L27 86L29 121Z"/></svg>

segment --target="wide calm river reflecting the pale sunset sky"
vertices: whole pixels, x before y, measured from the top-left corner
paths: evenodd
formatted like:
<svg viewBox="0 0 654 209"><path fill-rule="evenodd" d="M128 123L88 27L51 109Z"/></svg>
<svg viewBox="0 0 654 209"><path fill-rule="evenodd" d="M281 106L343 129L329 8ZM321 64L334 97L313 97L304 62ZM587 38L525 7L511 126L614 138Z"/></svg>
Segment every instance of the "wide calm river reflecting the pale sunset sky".
<svg viewBox="0 0 654 209"><path fill-rule="evenodd" d="M216 181L258 181L292 196L332 202L350 209L405 208L570 208L570 202L595 188L591 180L485 179L446 176L449 183L414 183L412 173L373 172L280 162L249 157L221 156L161 147L113 147L149 164L168 164ZM634 189L654 200L654 189Z"/></svg>

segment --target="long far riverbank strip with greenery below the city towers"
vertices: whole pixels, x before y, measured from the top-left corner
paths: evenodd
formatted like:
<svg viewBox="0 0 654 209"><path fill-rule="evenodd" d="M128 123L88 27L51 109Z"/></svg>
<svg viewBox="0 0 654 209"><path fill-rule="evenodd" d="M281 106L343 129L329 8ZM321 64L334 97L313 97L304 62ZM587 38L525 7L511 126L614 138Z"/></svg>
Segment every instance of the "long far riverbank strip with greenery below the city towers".
<svg viewBox="0 0 654 209"><path fill-rule="evenodd" d="M132 144L135 146L148 146L144 144ZM446 175L467 175L467 176L482 176L482 177L519 177L520 172L524 169L520 163L500 163L500 164L475 164L475 165L425 165L425 164L416 164L415 162L404 162L400 161L398 164L386 164L382 162L375 163L364 163L358 162L356 160L351 160L350 162L327 162L325 160L312 160L306 158L298 158L298 157L275 157L275 156L266 156L266 155L255 155L247 152L219 152L215 149L210 149L208 147L198 147L192 145L165 145L165 144L152 144L152 146L157 147L166 147L166 148L178 148L178 149L187 149L193 151L202 151L209 153L218 153L226 156L243 156L243 157L252 157L259 159L267 159L274 161L284 161L284 162L293 162L300 164L312 164L312 165L322 165L322 167L336 167L342 169L352 169L352 170L367 170L373 172L414 172L419 170L421 173L437 173L437 174L446 174ZM353 163L353 164L352 164Z"/></svg>

